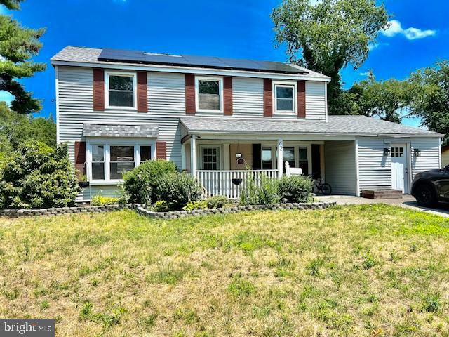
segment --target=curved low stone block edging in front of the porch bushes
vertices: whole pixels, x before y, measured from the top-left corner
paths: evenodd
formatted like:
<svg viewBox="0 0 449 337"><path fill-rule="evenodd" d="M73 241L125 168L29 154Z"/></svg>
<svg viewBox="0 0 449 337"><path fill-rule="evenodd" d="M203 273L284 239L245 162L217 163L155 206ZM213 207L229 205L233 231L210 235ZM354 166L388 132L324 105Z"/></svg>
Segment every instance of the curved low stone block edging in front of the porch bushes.
<svg viewBox="0 0 449 337"><path fill-rule="evenodd" d="M311 204L274 204L274 205L251 205L251 206L235 206L227 209L196 209L194 211L172 211L172 212L154 212L145 209L143 206L137 206L136 211L144 216L151 218L175 219L185 218L186 216L203 216L205 214L229 214L241 211L259 211L262 209L327 209L329 206L337 204L335 201L330 202L314 202Z"/></svg>

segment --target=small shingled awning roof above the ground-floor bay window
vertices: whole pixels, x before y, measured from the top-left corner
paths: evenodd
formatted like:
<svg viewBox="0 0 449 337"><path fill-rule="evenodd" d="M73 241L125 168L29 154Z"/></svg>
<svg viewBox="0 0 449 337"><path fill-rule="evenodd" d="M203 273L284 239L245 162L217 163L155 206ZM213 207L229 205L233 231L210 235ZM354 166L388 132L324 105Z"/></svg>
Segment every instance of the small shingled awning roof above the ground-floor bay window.
<svg viewBox="0 0 449 337"><path fill-rule="evenodd" d="M153 125L84 124L83 136L157 138L158 127Z"/></svg>

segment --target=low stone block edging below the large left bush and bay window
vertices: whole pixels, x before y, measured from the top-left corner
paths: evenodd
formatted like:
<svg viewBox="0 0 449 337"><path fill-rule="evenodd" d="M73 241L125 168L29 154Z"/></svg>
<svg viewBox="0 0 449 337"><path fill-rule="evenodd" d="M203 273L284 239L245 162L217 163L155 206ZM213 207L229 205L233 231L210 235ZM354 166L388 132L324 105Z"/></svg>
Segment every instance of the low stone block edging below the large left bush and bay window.
<svg viewBox="0 0 449 337"><path fill-rule="evenodd" d="M80 206L80 207L61 207L52 209L0 209L0 216L8 218L22 218L32 216L55 216L68 213L94 213L105 211L118 211L119 209L135 209L138 204L125 205L106 205L106 206Z"/></svg>

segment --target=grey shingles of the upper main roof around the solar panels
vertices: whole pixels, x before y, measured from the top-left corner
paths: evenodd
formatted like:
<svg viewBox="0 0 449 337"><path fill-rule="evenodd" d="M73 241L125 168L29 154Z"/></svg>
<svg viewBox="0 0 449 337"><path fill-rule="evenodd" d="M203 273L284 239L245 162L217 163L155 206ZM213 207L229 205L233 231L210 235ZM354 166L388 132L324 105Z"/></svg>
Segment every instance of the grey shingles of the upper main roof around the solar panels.
<svg viewBox="0 0 449 337"><path fill-rule="evenodd" d="M109 49L110 50L110 49ZM67 46L62 51L57 53L51 58L52 61L62 61L62 62L82 62L82 63L100 63L100 64L113 64L114 62L106 62L102 60L98 60L100 54L102 53L102 48L88 48L88 47L76 47L76 46ZM239 62L242 60L233 59L235 62ZM119 62L120 64L126 63L124 61ZM133 64L133 62L129 62ZM279 65L284 65L281 62L272 62L279 63ZM288 64L290 65L290 64ZM304 67L300 67L298 65L290 65L291 67L297 68L300 72L307 72L307 74L302 74L303 77L311 77L311 78L320 78L320 79L329 79L326 75L320 74L319 72L313 72ZM213 68L213 67L210 67Z"/></svg>

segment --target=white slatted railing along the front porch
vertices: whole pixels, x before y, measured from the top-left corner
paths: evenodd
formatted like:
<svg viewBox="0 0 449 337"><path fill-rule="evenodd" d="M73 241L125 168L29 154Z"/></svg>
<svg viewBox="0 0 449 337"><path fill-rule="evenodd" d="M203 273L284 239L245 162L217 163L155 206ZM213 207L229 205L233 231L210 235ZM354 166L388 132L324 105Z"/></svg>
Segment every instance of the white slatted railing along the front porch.
<svg viewBox="0 0 449 337"><path fill-rule="evenodd" d="M246 177L252 175L255 183L260 184L261 177L267 176L269 179L278 178L278 170L229 170L229 171L196 171L196 178L201 182L206 190L203 197L213 195L225 195L229 199L239 199L240 191L246 185ZM240 185L234 185L232 179L241 179Z"/></svg>

